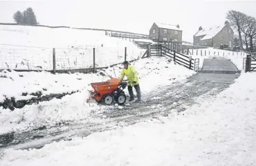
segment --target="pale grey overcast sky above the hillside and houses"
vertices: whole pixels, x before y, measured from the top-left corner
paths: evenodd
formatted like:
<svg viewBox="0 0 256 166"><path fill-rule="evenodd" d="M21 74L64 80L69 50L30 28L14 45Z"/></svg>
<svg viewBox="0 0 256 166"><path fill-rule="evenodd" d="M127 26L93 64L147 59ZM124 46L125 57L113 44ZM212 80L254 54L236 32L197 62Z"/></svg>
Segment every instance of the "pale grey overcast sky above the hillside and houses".
<svg viewBox="0 0 256 166"><path fill-rule="evenodd" d="M256 1L216 0L75 0L3 1L0 22L13 22L17 10L32 7L43 25L111 28L149 33L154 21L179 24L183 40L192 42L199 26L224 24L228 10L239 10L256 17Z"/></svg>

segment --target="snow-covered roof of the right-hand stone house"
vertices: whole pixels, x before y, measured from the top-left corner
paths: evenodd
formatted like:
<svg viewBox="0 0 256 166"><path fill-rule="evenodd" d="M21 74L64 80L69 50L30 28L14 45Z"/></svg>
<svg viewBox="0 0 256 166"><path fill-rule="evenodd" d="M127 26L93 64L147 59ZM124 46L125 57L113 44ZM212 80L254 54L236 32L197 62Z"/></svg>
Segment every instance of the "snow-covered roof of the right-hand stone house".
<svg viewBox="0 0 256 166"><path fill-rule="evenodd" d="M214 37L215 35L217 35L217 33L219 33L219 31L222 30L222 28L224 28L225 25L223 26L213 26L211 28L207 28L207 29L202 29L199 30L196 35L194 35L195 37L198 36L203 36L205 35L201 40L205 40L205 39L212 39L212 37Z"/></svg>

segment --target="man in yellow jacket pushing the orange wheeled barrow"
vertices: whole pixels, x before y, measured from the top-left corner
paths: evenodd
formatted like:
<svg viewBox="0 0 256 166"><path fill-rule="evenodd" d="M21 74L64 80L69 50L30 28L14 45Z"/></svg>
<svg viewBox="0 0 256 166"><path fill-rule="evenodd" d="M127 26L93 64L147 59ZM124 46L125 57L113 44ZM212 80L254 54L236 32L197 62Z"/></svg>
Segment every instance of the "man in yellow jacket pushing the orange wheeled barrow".
<svg viewBox="0 0 256 166"><path fill-rule="evenodd" d="M141 94L140 94L140 85L138 84L138 72L135 70L134 66L131 66L129 62L125 61L124 68L122 68L122 73L120 75L121 81L124 77L127 77L128 80L128 91L130 95L129 101L134 100L134 92L132 91L132 87L134 86L136 93L138 95L138 100L136 102L140 102Z"/></svg>

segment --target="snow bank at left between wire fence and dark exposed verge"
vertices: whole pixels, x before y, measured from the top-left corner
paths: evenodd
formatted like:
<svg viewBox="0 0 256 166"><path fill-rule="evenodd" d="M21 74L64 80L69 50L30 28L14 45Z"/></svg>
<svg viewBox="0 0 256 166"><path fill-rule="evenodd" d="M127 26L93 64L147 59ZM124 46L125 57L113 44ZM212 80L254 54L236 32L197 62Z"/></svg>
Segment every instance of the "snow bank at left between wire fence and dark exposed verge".
<svg viewBox="0 0 256 166"><path fill-rule="evenodd" d="M15 72L2 71L0 73L0 102L6 98L28 100L31 93L41 92L42 95L71 93L87 89L90 82L102 81L95 74L58 74L48 72ZM24 96L23 93L28 95Z"/></svg>

